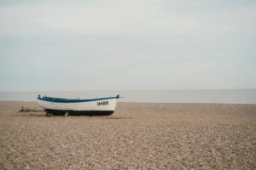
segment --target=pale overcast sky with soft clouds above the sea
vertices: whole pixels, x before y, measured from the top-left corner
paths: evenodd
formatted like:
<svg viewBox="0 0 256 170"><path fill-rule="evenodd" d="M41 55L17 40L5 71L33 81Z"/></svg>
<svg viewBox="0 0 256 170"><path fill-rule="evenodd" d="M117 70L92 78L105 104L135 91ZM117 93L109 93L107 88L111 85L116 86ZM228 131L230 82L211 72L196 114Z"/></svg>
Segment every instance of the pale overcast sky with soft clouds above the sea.
<svg viewBox="0 0 256 170"><path fill-rule="evenodd" d="M0 0L0 91L256 88L255 0Z"/></svg>

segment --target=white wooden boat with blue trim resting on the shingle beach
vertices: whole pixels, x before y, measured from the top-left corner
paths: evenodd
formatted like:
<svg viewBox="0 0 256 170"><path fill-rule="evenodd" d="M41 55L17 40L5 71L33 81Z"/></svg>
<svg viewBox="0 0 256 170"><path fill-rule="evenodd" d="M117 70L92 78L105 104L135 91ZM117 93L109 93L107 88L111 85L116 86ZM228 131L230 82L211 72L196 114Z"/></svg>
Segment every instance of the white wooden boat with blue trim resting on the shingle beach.
<svg viewBox="0 0 256 170"><path fill-rule="evenodd" d="M44 108L47 116L53 114L108 116L113 114L119 95L98 99L61 99L38 95L38 105Z"/></svg>

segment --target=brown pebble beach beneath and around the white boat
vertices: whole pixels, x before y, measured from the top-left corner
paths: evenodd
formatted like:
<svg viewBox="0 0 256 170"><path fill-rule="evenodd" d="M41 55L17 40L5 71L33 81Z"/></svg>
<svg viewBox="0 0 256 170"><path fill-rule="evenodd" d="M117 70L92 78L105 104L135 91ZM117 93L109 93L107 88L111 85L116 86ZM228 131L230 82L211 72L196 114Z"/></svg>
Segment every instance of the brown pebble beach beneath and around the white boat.
<svg viewBox="0 0 256 170"><path fill-rule="evenodd" d="M0 102L0 169L256 169L256 105L119 103L44 116Z"/></svg>

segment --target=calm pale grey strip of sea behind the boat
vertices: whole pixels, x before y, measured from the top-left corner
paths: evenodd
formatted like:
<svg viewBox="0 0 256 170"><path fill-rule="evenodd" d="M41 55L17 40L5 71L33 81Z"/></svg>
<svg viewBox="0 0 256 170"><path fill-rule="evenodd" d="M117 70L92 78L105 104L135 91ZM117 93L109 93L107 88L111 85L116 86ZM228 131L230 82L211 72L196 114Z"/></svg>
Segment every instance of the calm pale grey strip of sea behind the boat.
<svg viewBox="0 0 256 170"><path fill-rule="evenodd" d="M94 99L119 94L124 97L119 101L124 102L256 104L256 89L0 92L0 100L36 101L38 94L71 99Z"/></svg>

